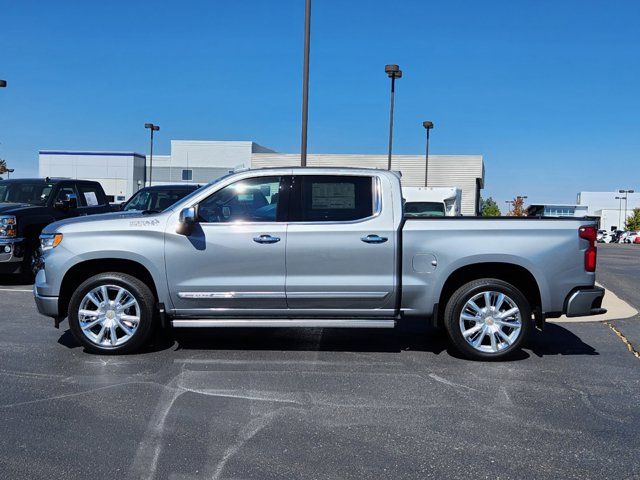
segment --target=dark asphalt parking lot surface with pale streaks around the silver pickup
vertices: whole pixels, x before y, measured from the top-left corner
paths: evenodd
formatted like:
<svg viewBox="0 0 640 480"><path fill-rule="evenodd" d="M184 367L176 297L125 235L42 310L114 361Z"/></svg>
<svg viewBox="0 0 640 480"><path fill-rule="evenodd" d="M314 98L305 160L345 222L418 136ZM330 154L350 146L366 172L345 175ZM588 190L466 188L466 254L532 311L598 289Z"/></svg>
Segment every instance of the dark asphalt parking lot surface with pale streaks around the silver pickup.
<svg viewBox="0 0 640 480"><path fill-rule="evenodd" d="M619 247L598 278L638 308L620 282L640 248ZM191 331L104 357L1 288L3 479L640 478L640 363L603 323L548 324L501 363L414 328Z"/></svg>

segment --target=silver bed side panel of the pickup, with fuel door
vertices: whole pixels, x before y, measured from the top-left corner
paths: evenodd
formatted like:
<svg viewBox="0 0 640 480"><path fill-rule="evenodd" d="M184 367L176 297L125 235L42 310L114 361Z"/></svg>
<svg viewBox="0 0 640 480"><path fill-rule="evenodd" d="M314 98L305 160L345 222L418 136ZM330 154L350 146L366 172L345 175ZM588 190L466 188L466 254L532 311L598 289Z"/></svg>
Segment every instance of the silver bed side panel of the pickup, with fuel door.
<svg viewBox="0 0 640 480"><path fill-rule="evenodd" d="M584 270L581 219L408 219L403 227L402 300L407 315L431 315L447 278L467 265L500 262L535 278L544 312L559 312L569 292L591 286Z"/></svg>

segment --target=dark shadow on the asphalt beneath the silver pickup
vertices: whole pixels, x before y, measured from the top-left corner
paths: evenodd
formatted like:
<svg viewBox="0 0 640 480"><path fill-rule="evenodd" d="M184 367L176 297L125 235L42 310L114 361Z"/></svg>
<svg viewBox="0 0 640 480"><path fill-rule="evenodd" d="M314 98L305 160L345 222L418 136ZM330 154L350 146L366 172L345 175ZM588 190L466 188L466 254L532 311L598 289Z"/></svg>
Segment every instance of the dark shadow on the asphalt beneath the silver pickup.
<svg viewBox="0 0 640 480"><path fill-rule="evenodd" d="M69 330L58 343L78 348ZM324 352L429 352L461 358L451 348L446 334L431 327L397 328L396 330L349 329L288 329L288 328L227 328L174 330L171 334L157 334L138 354L163 350L247 350L247 351L324 351ZM530 353L529 353L530 352ZM598 355L571 331L557 324L547 324L543 332L534 330L522 350L510 360L525 360L531 356Z"/></svg>

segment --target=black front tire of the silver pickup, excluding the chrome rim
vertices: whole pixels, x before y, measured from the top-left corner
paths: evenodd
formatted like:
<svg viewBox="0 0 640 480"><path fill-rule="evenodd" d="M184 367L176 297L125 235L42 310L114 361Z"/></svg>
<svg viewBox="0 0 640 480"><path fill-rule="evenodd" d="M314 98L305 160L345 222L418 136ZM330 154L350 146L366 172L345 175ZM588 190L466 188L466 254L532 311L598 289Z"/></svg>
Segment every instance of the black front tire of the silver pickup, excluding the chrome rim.
<svg viewBox="0 0 640 480"><path fill-rule="evenodd" d="M80 320L78 318L80 304L87 293L100 285L124 287L135 297L140 307L138 327L131 338L122 345L98 345L87 338L80 328ZM119 272L100 273L85 280L71 296L71 301L69 302L69 326L75 339L89 352L102 355L133 353L146 344L155 328L155 303L155 297L149 286L136 277Z"/></svg>

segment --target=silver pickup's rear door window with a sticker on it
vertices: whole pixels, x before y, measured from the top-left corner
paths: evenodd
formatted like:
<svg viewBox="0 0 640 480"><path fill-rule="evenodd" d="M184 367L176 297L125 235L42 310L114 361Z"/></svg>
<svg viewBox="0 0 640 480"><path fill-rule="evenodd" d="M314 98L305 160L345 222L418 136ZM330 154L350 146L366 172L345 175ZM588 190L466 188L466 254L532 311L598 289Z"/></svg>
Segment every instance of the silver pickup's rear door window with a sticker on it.
<svg viewBox="0 0 640 480"><path fill-rule="evenodd" d="M373 215L373 178L300 175L295 178L289 221L345 222Z"/></svg>

